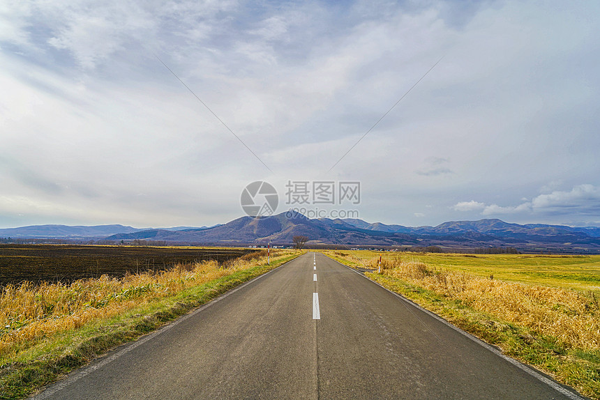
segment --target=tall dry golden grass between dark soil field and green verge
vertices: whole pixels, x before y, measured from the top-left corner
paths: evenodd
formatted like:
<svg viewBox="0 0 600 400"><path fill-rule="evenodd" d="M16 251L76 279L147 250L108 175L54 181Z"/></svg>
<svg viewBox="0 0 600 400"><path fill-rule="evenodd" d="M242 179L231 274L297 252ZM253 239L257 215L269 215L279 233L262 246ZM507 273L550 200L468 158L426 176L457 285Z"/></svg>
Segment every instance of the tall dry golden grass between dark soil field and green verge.
<svg viewBox="0 0 600 400"><path fill-rule="evenodd" d="M0 360L66 330L117 316L184 289L266 264L265 254L248 254L219 266L216 261L178 265L163 272L80 279L72 284L8 285L0 293ZM277 251L271 252L273 259Z"/></svg>

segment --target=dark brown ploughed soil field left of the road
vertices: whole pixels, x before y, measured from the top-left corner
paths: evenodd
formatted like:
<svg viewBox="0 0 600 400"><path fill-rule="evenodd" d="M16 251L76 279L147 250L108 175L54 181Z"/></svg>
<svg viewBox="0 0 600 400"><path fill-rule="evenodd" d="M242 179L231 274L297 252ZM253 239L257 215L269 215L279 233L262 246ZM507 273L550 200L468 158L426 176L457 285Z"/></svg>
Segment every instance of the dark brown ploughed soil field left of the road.
<svg viewBox="0 0 600 400"><path fill-rule="evenodd" d="M101 275L166 270L177 263L224 263L250 249L85 245L0 245L0 286L20 282L73 282Z"/></svg>

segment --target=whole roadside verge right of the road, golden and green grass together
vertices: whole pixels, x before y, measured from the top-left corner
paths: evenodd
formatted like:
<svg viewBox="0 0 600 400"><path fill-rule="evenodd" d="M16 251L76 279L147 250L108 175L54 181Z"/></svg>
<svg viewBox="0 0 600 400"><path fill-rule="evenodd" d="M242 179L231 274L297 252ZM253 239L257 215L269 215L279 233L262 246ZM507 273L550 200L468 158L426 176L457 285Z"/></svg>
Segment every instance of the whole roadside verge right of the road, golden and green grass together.
<svg viewBox="0 0 600 400"><path fill-rule="evenodd" d="M438 270L370 254L328 254L521 362L600 399L600 309L594 293ZM377 257L378 259L378 257Z"/></svg>

